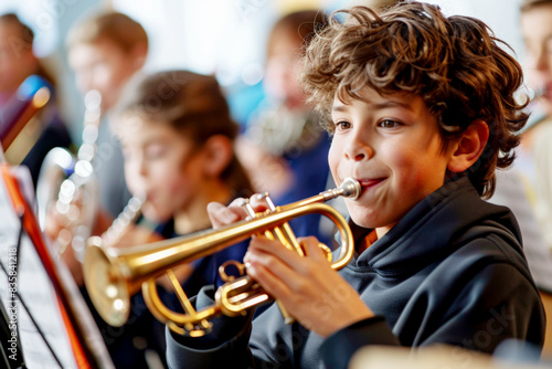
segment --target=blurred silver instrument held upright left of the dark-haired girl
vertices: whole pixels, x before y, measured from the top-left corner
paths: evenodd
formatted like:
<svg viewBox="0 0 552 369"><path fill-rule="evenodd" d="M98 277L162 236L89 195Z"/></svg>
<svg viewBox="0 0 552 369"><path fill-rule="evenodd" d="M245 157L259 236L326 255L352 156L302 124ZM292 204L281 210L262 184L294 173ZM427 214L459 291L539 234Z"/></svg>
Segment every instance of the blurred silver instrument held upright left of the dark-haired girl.
<svg viewBox="0 0 552 369"><path fill-rule="evenodd" d="M55 207L56 213L64 220L56 240L60 252L71 244L79 261L83 260L86 240L92 235L99 208L98 182L93 161L102 118L102 96L97 91L89 91L84 102L83 144L76 158L65 148L50 150L36 183L41 228L45 228L50 207Z"/></svg>

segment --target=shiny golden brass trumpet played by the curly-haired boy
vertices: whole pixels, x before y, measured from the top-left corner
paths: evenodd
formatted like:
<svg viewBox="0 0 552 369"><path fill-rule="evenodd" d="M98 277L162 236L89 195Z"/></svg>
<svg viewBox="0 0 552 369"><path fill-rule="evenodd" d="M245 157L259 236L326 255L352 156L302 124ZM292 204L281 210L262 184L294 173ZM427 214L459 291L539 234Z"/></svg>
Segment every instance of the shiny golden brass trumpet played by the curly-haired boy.
<svg viewBox="0 0 552 369"><path fill-rule="evenodd" d="M266 212L256 213L250 217L251 219L216 230L128 249L91 245L84 257L84 281L97 312L113 326L121 326L128 319L130 296L141 286L146 304L156 318L176 333L202 336L210 328L210 318L220 314L229 316L245 314L248 308L270 297L247 275L237 278L229 277L223 265L220 273L226 283L216 291L215 304L197 312L170 268L211 255L262 233L282 241L287 247L295 249L302 254L287 222L300 215L319 213L328 217L340 232L341 249L338 259L331 263L332 268L339 270L351 260L354 241L346 219L336 209L322 202L340 196L355 199L359 194L360 184L348 178L337 189L291 204L270 205L272 209ZM321 246L327 249L326 245ZM331 262L331 252L327 255ZM237 265L243 274L242 264L231 263ZM159 298L156 278L164 272L169 274L176 288L183 314L169 309Z"/></svg>

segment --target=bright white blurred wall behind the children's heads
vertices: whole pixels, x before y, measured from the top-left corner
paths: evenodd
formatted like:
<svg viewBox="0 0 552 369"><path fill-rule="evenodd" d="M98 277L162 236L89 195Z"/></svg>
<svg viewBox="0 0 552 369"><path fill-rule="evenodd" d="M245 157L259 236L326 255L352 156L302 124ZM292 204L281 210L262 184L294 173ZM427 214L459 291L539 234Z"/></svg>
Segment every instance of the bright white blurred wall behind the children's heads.
<svg viewBox="0 0 552 369"><path fill-rule="evenodd" d="M302 0L308 3L314 0ZM352 0L318 0L329 9ZM499 39L507 41L522 61L518 8L521 0L432 0L446 14L465 14L484 20ZM15 11L34 29L35 50L53 57L60 74L67 122L79 138L82 102L66 66L64 40L73 22L106 0L0 0L0 12ZM215 73L226 86L258 81L265 40L286 4L299 0L112 0L112 6L144 24L151 39L147 68L190 68ZM32 6L32 7L31 7Z"/></svg>

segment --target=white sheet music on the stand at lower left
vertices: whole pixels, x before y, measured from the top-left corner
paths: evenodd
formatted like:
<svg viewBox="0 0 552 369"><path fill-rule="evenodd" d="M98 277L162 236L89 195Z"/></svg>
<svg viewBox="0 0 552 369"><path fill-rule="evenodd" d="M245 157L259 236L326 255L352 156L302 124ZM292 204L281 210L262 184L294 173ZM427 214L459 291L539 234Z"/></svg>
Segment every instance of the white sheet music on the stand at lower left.
<svg viewBox="0 0 552 369"><path fill-rule="evenodd" d="M11 278L0 270L0 296L8 312L10 329L14 320L13 312L17 312L17 326L19 328L19 342L25 363L29 368L60 368L54 355L52 355L38 328L29 317L31 314L45 335L50 347L55 352L62 368L76 368L75 358L68 340L55 291L47 274L35 252L34 245L23 233L19 252L19 266L15 267L15 254L13 247L18 244L20 220L12 208L3 181L0 180L0 262L10 273ZM13 272L17 271L17 274ZM17 293L14 302L10 296L13 292L12 277L17 276ZM29 308L29 314L23 303ZM12 334L13 335L13 334ZM7 345L7 342L1 342ZM13 351L12 351L13 352Z"/></svg>

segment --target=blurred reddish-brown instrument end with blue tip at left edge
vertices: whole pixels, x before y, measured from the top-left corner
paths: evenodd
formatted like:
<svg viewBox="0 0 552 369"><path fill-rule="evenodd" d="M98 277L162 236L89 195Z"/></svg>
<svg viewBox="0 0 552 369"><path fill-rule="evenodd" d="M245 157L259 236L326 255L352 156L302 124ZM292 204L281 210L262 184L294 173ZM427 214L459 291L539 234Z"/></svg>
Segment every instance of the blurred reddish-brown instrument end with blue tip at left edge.
<svg viewBox="0 0 552 369"><path fill-rule="evenodd" d="M8 150L31 118L50 101L52 87L41 76L30 75L0 110L0 141Z"/></svg>

